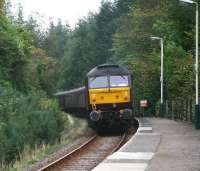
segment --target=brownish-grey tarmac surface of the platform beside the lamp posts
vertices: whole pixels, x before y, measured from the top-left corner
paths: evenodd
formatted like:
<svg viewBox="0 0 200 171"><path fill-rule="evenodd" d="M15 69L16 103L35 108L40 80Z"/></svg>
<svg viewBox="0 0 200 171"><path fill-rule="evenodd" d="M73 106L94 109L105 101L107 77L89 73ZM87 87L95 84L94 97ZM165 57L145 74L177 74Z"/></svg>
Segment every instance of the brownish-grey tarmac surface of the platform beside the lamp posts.
<svg viewBox="0 0 200 171"><path fill-rule="evenodd" d="M151 118L161 142L148 171L200 171L200 131L189 123Z"/></svg>

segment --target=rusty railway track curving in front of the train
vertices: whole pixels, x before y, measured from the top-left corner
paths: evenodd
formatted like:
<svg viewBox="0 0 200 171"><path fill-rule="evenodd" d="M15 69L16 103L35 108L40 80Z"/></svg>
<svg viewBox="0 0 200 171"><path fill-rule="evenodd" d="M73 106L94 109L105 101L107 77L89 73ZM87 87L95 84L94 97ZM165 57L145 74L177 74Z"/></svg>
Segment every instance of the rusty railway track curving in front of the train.
<svg viewBox="0 0 200 171"><path fill-rule="evenodd" d="M127 136L97 136L94 135L86 143L66 154L39 171L89 171L116 151Z"/></svg>

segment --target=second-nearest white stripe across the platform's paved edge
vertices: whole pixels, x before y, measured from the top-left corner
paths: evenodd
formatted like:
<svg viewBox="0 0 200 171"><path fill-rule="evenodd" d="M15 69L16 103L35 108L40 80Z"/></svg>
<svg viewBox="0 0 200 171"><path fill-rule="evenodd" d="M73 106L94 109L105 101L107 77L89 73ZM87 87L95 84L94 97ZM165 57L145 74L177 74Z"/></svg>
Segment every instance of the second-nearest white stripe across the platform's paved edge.
<svg viewBox="0 0 200 171"><path fill-rule="evenodd" d="M120 160L120 159L132 159L132 160L151 160L154 153L151 152L115 152L107 159Z"/></svg>

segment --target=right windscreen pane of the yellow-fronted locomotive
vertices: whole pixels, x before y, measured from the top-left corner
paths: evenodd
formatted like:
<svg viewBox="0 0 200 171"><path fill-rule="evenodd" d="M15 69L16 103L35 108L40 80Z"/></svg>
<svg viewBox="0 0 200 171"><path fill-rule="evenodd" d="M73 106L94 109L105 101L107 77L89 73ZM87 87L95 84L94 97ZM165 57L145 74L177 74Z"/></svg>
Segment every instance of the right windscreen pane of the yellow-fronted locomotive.
<svg viewBox="0 0 200 171"><path fill-rule="evenodd" d="M127 87L128 76L110 76L110 87Z"/></svg>

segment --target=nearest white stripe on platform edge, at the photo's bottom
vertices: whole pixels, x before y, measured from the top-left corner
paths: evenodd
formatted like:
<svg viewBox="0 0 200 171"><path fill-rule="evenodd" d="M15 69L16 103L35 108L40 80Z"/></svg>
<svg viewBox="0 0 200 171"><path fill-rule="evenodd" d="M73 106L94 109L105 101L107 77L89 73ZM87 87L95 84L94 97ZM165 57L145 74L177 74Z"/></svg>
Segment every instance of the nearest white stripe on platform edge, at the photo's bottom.
<svg viewBox="0 0 200 171"><path fill-rule="evenodd" d="M102 163L92 171L145 171L146 163Z"/></svg>

